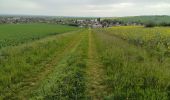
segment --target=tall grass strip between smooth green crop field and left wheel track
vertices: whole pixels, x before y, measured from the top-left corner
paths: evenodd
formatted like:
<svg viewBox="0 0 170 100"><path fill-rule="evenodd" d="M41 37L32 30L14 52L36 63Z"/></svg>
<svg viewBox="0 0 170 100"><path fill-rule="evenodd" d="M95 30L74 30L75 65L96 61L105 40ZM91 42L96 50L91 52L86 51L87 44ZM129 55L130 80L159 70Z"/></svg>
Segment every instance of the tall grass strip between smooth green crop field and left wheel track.
<svg viewBox="0 0 170 100"><path fill-rule="evenodd" d="M0 97L6 99L15 97L15 92L20 91L20 87L24 86L25 79L35 77L46 64L79 36L79 32L65 33L2 49L0 51Z"/></svg>

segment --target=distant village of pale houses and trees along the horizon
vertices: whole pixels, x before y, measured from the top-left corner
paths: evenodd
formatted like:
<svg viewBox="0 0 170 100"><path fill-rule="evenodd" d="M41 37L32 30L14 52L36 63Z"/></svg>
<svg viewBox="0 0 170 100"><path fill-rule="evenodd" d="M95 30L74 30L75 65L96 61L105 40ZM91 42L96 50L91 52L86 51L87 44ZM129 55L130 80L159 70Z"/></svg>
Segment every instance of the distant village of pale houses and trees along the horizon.
<svg viewBox="0 0 170 100"><path fill-rule="evenodd" d="M66 24L77 27L105 28L112 26L141 25L137 23L121 23L120 21L101 18L71 18L71 17L44 17L44 16L0 16L0 24L22 23L53 23Z"/></svg>

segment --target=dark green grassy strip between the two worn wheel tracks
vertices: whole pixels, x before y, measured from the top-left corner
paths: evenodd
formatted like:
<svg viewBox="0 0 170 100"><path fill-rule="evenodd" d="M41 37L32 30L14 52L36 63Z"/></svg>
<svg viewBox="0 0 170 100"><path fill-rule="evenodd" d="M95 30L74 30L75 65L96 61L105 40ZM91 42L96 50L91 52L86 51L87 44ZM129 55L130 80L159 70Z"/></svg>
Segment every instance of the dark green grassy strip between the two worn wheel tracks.
<svg viewBox="0 0 170 100"><path fill-rule="evenodd" d="M85 68L88 31L81 32L77 44L55 65L55 69L33 91L31 98L42 100L81 100L85 97Z"/></svg>

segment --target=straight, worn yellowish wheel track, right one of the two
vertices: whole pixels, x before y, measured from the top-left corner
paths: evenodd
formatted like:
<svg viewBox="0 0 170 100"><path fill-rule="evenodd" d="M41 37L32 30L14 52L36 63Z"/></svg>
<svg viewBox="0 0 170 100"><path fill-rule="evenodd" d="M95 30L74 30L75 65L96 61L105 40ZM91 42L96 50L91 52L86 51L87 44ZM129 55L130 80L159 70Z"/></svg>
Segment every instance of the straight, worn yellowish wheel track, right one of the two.
<svg viewBox="0 0 170 100"><path fill-rule="evenodd" d="M103 66L99 61L96 51L96 45L92 37L91 29L89 29L89 52L88 52L88 68L87 68L87 94L92 100L102 100L105 92L103 85L104 72Z"/></svg>

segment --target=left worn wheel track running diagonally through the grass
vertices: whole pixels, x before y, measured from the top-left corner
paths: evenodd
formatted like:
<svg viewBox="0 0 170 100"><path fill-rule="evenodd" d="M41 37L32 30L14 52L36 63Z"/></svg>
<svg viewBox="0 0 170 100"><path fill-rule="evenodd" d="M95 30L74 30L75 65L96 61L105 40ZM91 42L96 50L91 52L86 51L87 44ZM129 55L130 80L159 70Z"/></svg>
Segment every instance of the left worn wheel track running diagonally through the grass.
<svg viewBox="0 0 170 100"><path fill-rule="evenodd" d="M78 45L78 41L81 40L81 36L80 34L77 33L70 33L70 34L77 34L75 37L72 38L72 40L70 41L70 43L68 43L66 45L65 48L63 48L63 50L56 52L55 57L45 65L44 69L42 72L40 72L36 77L34 77L34 79L31 81L28 81L30 84L30 87L25 87L25 89L23 88L23 91L19 92L19 95L21 96L20 98L25 98L26 96L29 95L29 93L31 91L33 91L34 89L36 89L38 87L38 85L41 84L41 81L44 80L45 78L47 78L48 74L52 73L54 66L56 64L58 64L66 55L68 55L70 53L70 49L75 48L75 46ZM68 34L68 33L67 33ZM26 89L27 88L27 89ZM27 97L28 98L28 97Z"/></svg>

